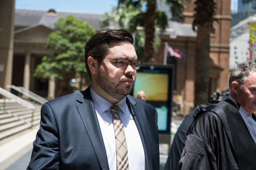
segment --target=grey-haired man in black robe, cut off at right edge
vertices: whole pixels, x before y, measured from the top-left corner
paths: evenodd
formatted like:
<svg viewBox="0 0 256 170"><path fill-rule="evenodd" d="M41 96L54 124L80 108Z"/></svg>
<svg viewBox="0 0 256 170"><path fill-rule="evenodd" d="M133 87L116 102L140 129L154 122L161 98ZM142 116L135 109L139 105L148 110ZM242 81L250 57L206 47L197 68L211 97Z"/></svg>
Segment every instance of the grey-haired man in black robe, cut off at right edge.
<svg viewBox="0 0 256 170"><path fill-rule="evenodd" d="M230 94L200 112L188 131L181 170L255 170L256 63L232 69Z"/></svg>

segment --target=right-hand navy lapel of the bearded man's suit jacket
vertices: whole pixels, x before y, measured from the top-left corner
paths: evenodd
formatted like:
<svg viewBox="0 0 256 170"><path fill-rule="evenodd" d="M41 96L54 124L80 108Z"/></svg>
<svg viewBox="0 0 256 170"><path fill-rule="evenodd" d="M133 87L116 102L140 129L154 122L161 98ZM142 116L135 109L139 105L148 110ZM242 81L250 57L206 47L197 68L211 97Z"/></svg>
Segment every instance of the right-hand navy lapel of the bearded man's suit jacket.
<svg viewBox="0 0 256 170"><path fill-rule="evenodd" d="M150 125L146 118L143 117L142 111L139 107L135 106L136 102L132 100L131 98L126 98L126 103L128 105L128 108L131 111L133 120L135 121L135 125L137 126L137 129L139 131L139 135L142 141L142 145L144 148L145 153L145 159L147 164L147 169L150 170L153 168L152 166L152 153L150 147L150 140L148 135L151 134L150 132Z"/></svg>

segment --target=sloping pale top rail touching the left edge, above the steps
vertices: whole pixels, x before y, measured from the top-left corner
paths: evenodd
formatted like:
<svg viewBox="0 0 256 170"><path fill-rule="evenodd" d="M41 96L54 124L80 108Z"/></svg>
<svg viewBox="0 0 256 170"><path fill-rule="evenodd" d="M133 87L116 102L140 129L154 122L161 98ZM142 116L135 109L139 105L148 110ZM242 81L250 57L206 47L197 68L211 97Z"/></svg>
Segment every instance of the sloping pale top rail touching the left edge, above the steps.
<svg viewBox="0 0 256 170"><path fill-rule="evenodd" d="M9 99L17 102L18 104L21 104L22 106L28 108L28 109L33 109L35 110L36 107L29 103L28 101L25 101L23 99L21 99L20 97L12 94L11 92L7 91L7 90L4 90L3 88L0 87L0 94L4 95L5 97L8 97Z"/></svg>

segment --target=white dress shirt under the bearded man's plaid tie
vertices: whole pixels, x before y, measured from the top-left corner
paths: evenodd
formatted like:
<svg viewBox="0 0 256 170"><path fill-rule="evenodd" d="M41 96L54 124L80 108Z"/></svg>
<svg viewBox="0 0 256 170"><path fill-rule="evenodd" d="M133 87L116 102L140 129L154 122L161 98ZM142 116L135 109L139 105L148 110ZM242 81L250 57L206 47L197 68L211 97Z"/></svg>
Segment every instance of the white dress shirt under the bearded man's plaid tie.
<svg viewBox="0 0 256 170"><path fill-rule="evenodd" d="M97 94L92 89L92 86L90 87L90 91L97 118L100 124L100 130L107 153L108 165L110 170L116 170L116 141L112 114L109 110L109 107L113 104ZM135 125L135 121L132 118L132 114L130 113L126 104L126 97L124 97L115 105L120 108L119 117L121 118L124 125L125 138L128 147L129 170L145 170L146 161L142 141L138 129Z"/></svg>

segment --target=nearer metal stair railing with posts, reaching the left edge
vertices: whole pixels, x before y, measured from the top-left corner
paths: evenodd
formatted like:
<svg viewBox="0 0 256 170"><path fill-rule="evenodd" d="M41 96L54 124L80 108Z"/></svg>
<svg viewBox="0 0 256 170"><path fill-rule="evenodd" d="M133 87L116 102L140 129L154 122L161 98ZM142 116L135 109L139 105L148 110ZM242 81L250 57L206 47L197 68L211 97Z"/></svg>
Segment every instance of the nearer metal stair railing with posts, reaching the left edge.
<svg viewBox="0 0 256 170"><path fill-rule="evenodd" d="M9 91L7 91L7 90L4 90L4 89L1 88L1 87L0 87L0 94L2 94L3 96L5 96L5 97L11 99L12 101L14 101L14 102L16 102L16 103L18 103L18 104L21 104L21 105L24 106L25 108L31 109L31 111L32 111L31 127L32 127L32 126L33 126L33 117L34 117L34 113L35 113L36 107L35 107L33 104L29 103L28 101L25 101L24 99L21 99L20 97L18 97L18 96L16 96L16 95L12 94L11 92L9 92ZM4 104L4 106L3 106L3 111L4 111L4 113L5 113L5 112L6 112L6 107L5 107L6 102L5 102L5 100L4 100L4 103L3 103L3 104ZM19 120L21 120L21 121L23 121L23 122L25 122L25 123L29 123L28 121L25 121L23 118L20 118L20 117L17 116L17 115L12 114L12 116L18 118Z"/></svg>

